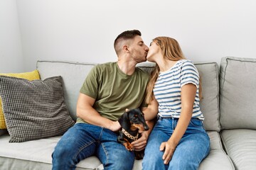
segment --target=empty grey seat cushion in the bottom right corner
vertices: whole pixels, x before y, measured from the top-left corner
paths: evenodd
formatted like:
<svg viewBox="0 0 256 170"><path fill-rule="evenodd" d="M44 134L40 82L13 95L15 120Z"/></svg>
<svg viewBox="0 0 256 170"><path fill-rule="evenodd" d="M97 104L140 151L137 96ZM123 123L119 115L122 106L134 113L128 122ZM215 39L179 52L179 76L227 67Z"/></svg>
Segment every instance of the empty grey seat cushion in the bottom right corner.
<svg viewBox="0 0 256 170"><path fill-rule="evenodd" d="M223 130L223 145L235 169L251 170L256 167L256 130Z"/></svg>

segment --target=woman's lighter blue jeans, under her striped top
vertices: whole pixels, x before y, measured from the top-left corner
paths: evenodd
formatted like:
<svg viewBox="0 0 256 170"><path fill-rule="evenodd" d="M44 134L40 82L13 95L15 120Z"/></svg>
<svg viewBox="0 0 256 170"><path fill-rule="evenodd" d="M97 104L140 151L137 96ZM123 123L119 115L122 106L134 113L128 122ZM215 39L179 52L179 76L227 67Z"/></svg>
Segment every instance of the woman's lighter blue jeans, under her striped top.
<svg viewBox="0 0 256 170"><path fill-rule="evenodd" d="M198 169L200 162L210 151L210 139L198 119L191 119L188 128L178 143L169 164L165 165L160 151L162 142L167 142L178 123L177 118L159 118L149 135L142 162L144 170L163 169Z"/></svg>

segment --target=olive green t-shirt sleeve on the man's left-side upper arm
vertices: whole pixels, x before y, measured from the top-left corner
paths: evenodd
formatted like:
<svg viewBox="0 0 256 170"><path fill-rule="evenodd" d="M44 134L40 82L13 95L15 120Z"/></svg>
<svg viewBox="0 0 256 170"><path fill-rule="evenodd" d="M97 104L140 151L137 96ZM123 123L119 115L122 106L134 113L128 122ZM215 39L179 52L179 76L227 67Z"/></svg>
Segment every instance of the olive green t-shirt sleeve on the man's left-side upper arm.
<svg viewBox="0 0 256 170"><path fill-rule="evenodd" d="M99 88L99 77L97 66L95 66L90 70L89 74L87 74L80 89L80 93L96 99Z"/></svg>

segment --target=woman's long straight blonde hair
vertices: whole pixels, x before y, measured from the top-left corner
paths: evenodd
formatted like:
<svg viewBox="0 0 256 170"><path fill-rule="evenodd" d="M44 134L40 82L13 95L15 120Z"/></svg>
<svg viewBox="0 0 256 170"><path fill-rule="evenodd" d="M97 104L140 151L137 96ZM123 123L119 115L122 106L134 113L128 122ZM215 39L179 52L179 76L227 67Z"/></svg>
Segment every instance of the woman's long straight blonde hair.
<svg viewBox="0 0 256 170"><path fill-rule="evenodd" d="M178 41L176 41L174 38L157 37L153 39L153 42L155 42L156 45L159 45L161 54L166 60L178 61L186 59L186 57L183 55L183 52L181 51L181 47L178 44ZM150 103L150 101L153 100L154 84L157 77L159 77L159 72L159 66L156 64L155 69L151 72L151 79L146 88L146 103ZM201 83L199 83L199 98L201 98Z"/></svg>

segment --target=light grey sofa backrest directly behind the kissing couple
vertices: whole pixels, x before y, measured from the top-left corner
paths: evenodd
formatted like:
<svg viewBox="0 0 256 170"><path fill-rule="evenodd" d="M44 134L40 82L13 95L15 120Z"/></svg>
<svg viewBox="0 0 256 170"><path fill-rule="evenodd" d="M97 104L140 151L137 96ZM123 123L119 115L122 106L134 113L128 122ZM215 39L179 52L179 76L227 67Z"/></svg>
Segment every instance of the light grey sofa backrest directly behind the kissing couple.
<svg viewBox="0 0 256 170"><path fill-rule="evenodd" d="M203 100L201 100L201 111L205 116L203 122L206 130L220 130L219 107L218 107L218 64L215 62L196 63L198 72L202 78ZM85 77L94 67L93 63L81 62L58 62L58 61L38 61L37 69L41 79L53 76L63 78L63 88L65 103L68 106L70 115L76 120L76 103L82 83ZM137 64L137 67L151 72L155 64L143 62Z"/></svg>

